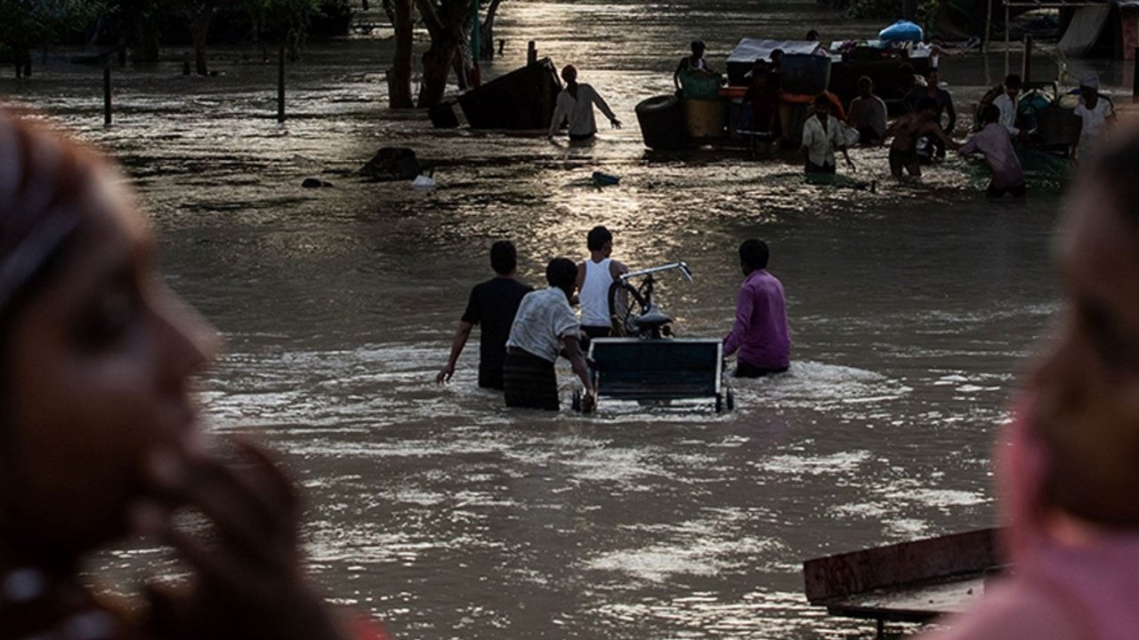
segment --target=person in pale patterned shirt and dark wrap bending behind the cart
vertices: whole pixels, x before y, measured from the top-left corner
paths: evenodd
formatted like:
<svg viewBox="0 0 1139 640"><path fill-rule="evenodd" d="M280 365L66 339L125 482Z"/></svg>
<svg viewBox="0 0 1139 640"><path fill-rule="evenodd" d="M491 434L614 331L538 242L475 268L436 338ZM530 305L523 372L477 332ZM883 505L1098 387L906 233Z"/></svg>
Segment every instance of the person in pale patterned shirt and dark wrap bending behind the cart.
<svg viewBox="0 0 1139 640"><path fill-rule="evenodd" d="M577 265L572 260L556 257L546 265L550 286L522 298L506 343L502 383L507 407L557 411L558 377L554 363L562 354L584 387L582 411L592 410L593 385L579 343L577 317L570 306L576 277Z"/></svg>

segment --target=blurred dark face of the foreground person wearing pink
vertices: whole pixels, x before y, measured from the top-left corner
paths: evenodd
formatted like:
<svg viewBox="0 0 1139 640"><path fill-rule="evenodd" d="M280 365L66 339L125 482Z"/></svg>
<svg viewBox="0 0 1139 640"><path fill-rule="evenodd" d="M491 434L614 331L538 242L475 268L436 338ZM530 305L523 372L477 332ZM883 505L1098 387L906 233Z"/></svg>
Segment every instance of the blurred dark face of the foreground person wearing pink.
<svg viewBox="0 0 1139 640"><path fill-rule="evenodd" d="M1048 499L1139 528L1139 129L1081 170L1059 238L1065 309L1033 378Z"/></svg>

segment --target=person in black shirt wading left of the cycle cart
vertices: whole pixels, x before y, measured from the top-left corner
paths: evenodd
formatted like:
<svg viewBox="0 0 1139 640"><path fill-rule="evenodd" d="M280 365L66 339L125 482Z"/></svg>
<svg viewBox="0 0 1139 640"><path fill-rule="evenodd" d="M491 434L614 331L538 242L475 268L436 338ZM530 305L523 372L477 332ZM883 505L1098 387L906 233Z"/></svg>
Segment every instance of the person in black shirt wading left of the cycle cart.
<svg viewBox="0 0 1139 640"><path fill-rule="evenodd" d="M509 240L499 240L491 246L491 268L495 276L470 289L467 310L459 320L459 329L451 342L451 356L446 367L435 376L443 384L454 375L454 363L470 337L470 329L482 325L478 348L478 386L502 388L502 361L506 360L506 340L510 336L510 325L518 311L522 297L533 290L514 279L518 254Z"/></svg>

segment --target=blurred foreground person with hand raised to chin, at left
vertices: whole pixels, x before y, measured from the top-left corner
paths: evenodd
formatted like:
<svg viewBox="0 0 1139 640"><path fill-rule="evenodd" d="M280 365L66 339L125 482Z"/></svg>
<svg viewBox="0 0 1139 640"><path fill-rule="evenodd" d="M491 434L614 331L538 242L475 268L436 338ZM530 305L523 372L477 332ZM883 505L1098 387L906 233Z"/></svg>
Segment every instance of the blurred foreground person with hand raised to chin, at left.
<svg viewBox="0 0 1139 640"><path fill-rule="evenodd" d="M0 639L383 638L304 577L293 483L254 445L206 445L191 377L214 330L155 272L121 184L0 110ZM115 607L81 565L132 533L189 577Z"/></svg>

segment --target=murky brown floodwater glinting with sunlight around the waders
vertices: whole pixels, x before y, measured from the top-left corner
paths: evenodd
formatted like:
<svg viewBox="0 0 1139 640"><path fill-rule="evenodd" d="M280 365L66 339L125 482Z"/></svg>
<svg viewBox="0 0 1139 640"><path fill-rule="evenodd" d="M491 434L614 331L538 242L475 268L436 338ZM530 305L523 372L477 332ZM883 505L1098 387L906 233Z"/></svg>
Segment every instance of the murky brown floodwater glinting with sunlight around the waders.
<svg viewBox="0 0 1139 640"><path fill-rule="evenodd" d="M876 194L806 186L792 163L645 150L633 106L671 89L694 36L722 68L743 36L880 26L810 1L511 0L499 19L506 55L484 75L536 40L625 128L574 148L433 130L385 108L392 43L378 31L312 46L289 69L282 126L276 72L252 48L213 51L218 77L179 75L177 54L116 71L107 129L93 67L40 67L0 93L126 166L171 284L227 340L203 383L208 418L287 454L310 495L312 572L337 601L424 640L868 637L806 604L802 561L992 524L990 442L1056 310L1059 188L988 202L959 159L900 186L885 149L852 151ZM968 113L1003 58L942 67ZM1124 69L1096 71L1118 90ZM440 187L361 182L380 146L415 148ZM592 171L621 183L599 190ZM335 187L302 189L308 177ZM490 244L511 238L522 279L540 285L550 257L584 255L595 224L633 268L691 265L694 282L659 288L683 336L727 331L736 248L764 238L790 371L736 383L724 416L603 400L583 418L507 411L475 387L472 343L435 386ZM159 558L100 563L131 576Z"/></svg>

